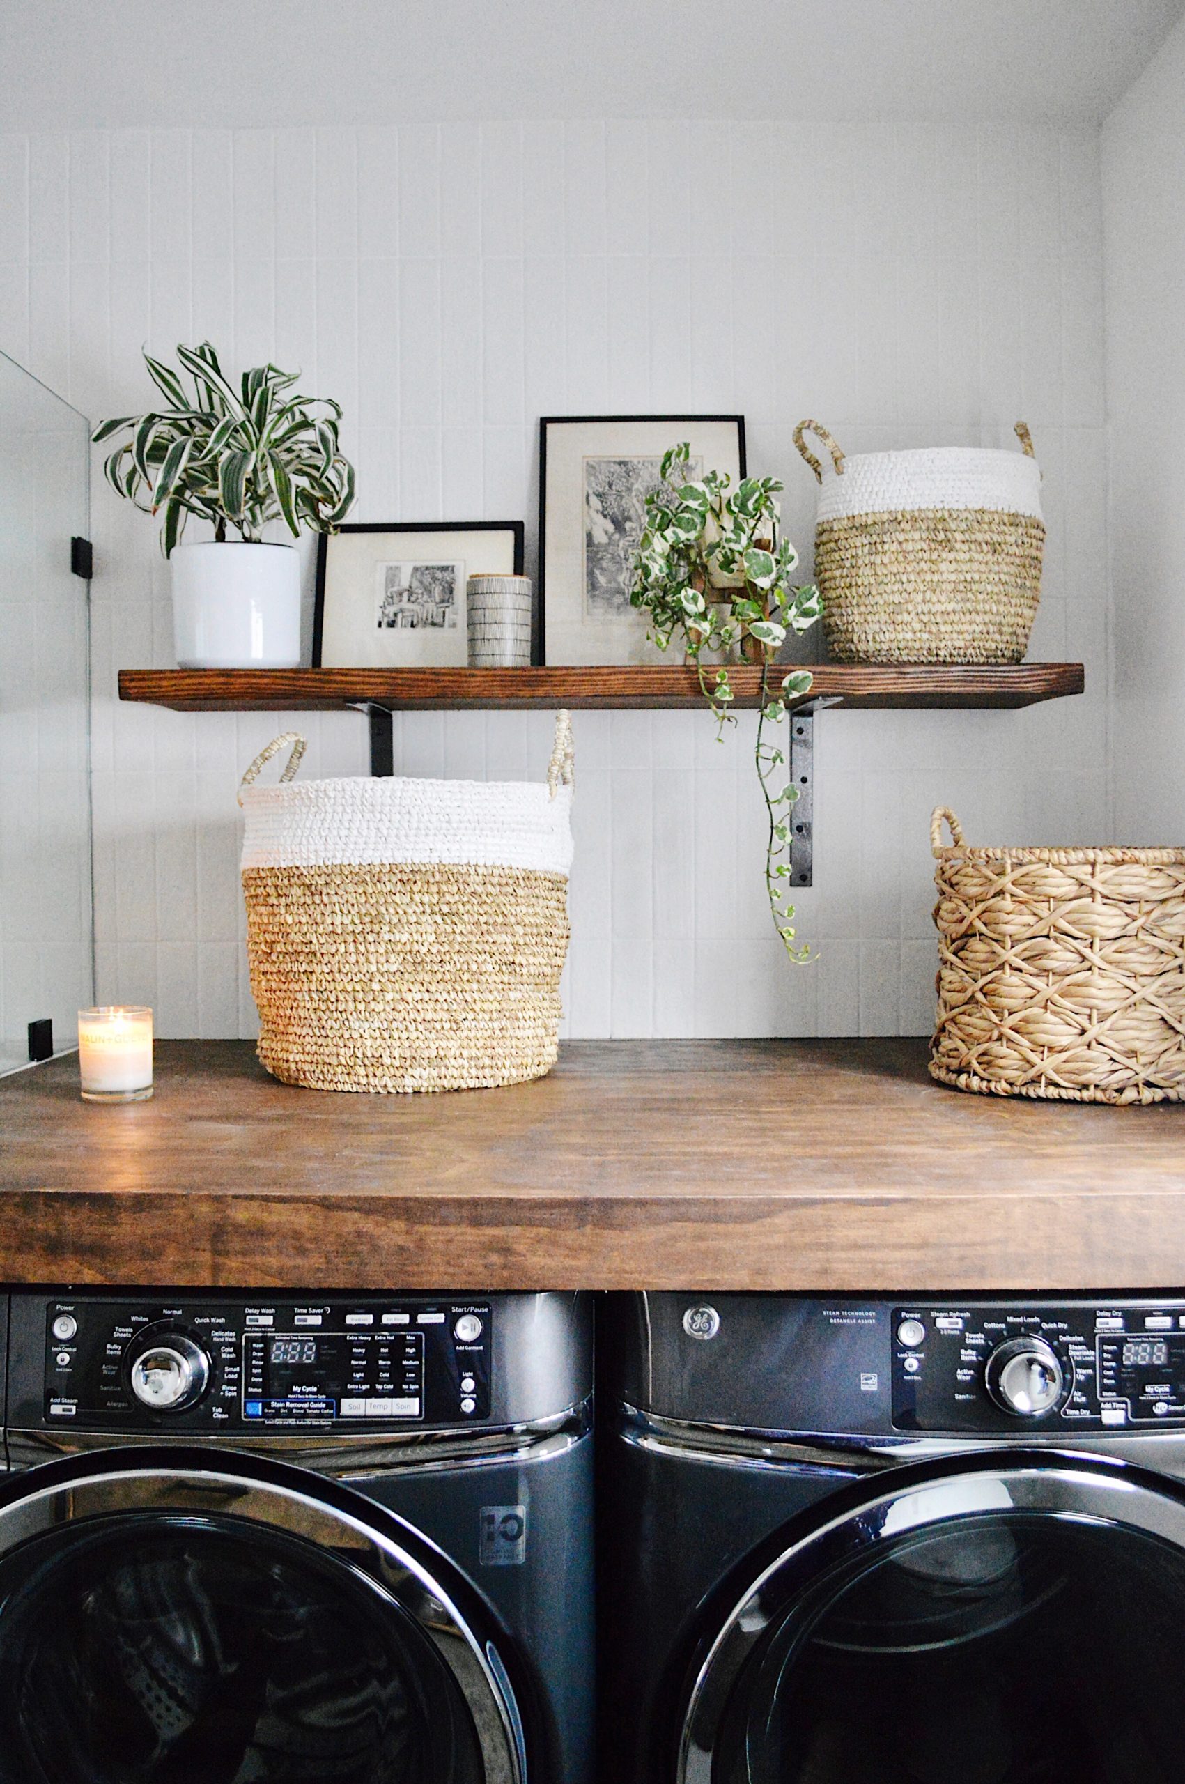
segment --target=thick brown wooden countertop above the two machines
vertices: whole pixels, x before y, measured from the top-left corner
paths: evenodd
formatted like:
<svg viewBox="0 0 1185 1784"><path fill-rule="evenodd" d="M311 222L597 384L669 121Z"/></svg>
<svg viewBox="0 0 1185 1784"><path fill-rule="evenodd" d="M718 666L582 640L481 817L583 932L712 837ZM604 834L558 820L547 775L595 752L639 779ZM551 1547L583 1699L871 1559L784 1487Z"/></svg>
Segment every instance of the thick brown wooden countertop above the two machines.
<svg viewBox="0 0 1185 1784"><path fill-rule="evenodd" d="M1180 1288L1185 1104L944 1090L912 1040L571 1042L534 1085L0 1079L0 1279L237 1288Z"/></svg>

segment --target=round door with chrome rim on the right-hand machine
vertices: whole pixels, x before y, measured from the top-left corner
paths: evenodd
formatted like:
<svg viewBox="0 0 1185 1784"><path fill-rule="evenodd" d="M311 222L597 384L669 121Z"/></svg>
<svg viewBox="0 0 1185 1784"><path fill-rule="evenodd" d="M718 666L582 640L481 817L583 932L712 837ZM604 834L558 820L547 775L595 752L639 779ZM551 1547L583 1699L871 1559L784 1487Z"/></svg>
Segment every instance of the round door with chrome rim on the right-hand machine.
<svg viewBox="0 0 1185 1784"><path fill-rule="evenodd" d="M990 1452L771 1550L698 1664L682 1784L1178 1784L1185 1497Z"/></svg>

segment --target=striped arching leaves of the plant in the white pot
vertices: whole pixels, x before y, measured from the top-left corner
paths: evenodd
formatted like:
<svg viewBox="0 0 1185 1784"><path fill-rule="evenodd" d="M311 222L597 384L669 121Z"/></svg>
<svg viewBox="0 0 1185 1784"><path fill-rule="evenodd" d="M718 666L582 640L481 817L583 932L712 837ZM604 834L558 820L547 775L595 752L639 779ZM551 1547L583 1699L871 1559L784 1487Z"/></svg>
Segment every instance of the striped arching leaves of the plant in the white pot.
<svg viewBox="0 0 1185 1784"><path fill-rule="evenodd" d="M104 421L91 435L98 444L128 432L107 458L107 482L145 514L164 516L164 555L191 514L212 521L218 542L232 528L259 544L277 519L294 537L302 523L334 532L353 503L353 466L337 441L341 405L286 394L300 373L277 366L255 366L236 385L209 341L178 346L177 359L180 373L145 353L162 407Z"/></svg>

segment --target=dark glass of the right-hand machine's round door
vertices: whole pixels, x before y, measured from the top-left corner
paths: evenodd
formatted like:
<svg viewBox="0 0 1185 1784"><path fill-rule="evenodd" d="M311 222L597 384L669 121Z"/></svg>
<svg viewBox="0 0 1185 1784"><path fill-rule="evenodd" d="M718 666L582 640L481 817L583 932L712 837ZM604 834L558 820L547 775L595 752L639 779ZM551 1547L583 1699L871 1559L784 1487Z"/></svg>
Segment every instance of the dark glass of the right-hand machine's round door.
<svg viewBox="0 0 1185 1784"><path fill-rule="evenodd" d="M1073 1513L882 1527L753 1645L710 1775L1178 1784L1181 1702L1174 1543Z"/></svg>

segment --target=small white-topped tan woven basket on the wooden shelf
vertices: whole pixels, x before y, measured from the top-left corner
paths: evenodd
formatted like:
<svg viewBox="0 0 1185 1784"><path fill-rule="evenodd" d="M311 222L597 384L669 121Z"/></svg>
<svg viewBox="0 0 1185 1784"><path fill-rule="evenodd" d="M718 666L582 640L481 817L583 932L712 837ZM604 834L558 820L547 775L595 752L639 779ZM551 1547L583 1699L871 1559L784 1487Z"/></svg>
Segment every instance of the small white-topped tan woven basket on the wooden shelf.
<svg viewBox="0 0 1185 1784"><path fill-rule="evenodd" d="M1015 434L1024 453L935 446L844 457L817 421L794 428L821 485L816 582L835 662L1024 660L1046 528L1023 421Z"/></svg>

